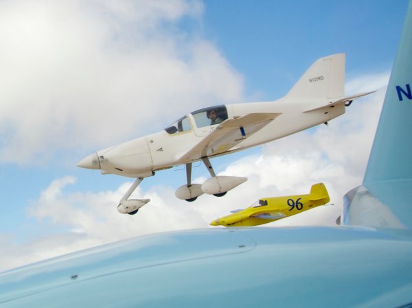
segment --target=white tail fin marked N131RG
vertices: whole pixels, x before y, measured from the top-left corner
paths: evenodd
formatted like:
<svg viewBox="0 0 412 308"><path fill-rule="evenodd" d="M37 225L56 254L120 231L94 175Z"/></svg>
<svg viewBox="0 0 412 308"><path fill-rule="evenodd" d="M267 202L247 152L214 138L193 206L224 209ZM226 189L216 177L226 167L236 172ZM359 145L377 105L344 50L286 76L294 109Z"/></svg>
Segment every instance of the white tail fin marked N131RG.
<svg viewBox="0 0 412 308"><path fill-rule="evenodd" d="M315 61L286 94L288 99L343 97L345 91L345 54L334 54Z"/></svg>

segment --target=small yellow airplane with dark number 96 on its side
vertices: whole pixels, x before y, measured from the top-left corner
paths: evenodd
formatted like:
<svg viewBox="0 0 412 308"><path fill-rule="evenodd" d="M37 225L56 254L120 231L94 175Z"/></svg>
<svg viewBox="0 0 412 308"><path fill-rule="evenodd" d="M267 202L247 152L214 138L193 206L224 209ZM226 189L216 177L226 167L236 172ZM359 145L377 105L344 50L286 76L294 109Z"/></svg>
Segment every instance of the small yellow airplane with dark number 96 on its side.
<svg viewBox="0 0 412 308"><path fill-rule="evenodd" d="M312 185L308 195L263 198L244 210L231 211L231 215L218 218L211 226L258 226L268 224L284 217L314 209L330 201L323 183Z"/></svg>

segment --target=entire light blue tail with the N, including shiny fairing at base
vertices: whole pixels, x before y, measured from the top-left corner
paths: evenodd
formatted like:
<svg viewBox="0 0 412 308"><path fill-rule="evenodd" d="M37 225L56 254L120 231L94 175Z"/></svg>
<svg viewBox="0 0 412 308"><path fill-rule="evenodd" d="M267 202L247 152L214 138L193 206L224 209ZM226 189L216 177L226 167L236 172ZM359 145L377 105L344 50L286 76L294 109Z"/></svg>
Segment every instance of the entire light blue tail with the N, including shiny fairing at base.
<svg viewBox="0 0 412 308"><path fill-rule="evenodd" d="M363 185L345 196L342 224L412 229L412 2Z"/></svg>

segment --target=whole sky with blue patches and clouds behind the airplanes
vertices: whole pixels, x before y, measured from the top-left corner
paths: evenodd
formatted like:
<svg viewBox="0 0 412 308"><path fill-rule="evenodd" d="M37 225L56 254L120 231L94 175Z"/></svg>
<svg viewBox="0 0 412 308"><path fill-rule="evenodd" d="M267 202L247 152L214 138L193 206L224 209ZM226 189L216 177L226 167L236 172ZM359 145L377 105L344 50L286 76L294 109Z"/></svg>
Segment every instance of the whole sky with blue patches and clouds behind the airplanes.
<svg viewBox="0 0 412 308"><path fill-rule="evenodd" d="M2 1L0 244L9 253L1 269L135 235L207 227L263 196L306 193L315 180L329 186L335 207L275 226L331 224L343 193L361 184L407 5ZM175 167L142 182L137 193L152 202L139 215L119 217L115 207L130 179L76 167L95 150L161 130L192 110L282 97L314 60L340 52L347 94L378 93L328 128L212 160L222 174L249 177L242 192L181 202L174 190L185 171ZM306 152L290 150L303 143ZM203 165L194 178L207 178Z"/></svg>

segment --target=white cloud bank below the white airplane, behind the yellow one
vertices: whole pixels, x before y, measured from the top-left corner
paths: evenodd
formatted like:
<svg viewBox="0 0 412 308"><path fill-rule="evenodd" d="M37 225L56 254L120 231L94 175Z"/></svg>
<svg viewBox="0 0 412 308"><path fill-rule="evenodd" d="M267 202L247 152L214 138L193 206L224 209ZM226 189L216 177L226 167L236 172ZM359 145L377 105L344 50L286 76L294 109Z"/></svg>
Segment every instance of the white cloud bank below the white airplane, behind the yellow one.
<svg viewBox="0 0 412 308"><path fill-rule="evenodd" d="M185 202L175 198L170 186L153 185L147 190L138 187L132 198L149 198L151 202L137 215L121 215L116 206L132 182L124 182L113 191L68 193L67 186L76 185L76 178L56 179L27 207L27 214L60 233L51 232L23 245L3 236L0 241L10 253L0 257L0 264L3 269L11 268L138 235L207 228L217 217L244 209L259 198L308 193L316 182L325 183L333 205L265 226L334 225L341 213L343 195L363 180L389 79L388 73L385 76L374 84L377 93L355 101L345 115L330 121L329 126L273 141L258 154L228 165L220 175L247 176L249 180L223 198L203 195L196 202ZM184 173L181 171L182 181ZM207 177L205 170L193 182L203 182Z"/></svg>

